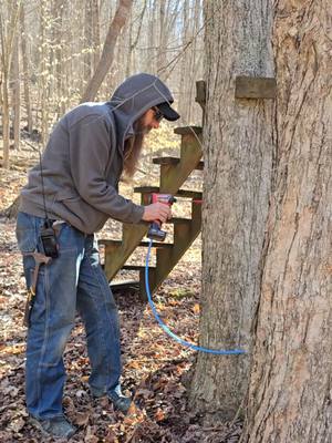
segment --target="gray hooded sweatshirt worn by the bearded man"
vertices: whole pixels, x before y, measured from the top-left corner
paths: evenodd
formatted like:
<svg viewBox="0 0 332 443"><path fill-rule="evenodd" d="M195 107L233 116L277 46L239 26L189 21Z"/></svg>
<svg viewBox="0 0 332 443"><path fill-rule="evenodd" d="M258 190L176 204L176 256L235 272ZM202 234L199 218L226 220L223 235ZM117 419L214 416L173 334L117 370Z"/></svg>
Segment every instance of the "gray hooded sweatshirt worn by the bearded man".
<svg viewBox="0 0 332 443"><path fill-rule="evenodd" d="M122 83L110 102L83 103L55 125L42 155L45 206L49 218L61 219L92 234L107 218L139 223L143 206L117 193L125 140L147 110L173 102L156 76L136 74ZM20 210L44 217L41 168L29 173Z"/></svg>

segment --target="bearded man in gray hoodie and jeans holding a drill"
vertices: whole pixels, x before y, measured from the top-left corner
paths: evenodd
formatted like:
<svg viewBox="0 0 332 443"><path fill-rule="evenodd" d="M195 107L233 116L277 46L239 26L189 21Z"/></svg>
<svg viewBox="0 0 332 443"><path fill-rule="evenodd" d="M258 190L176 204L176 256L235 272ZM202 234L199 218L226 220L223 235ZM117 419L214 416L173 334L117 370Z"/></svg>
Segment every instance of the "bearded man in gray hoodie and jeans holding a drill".
<svg viewBox="0 0 332 443"><path fill-rule="evenodd" d="M23 254L29 312L25 395L31 421L53 436L75 429L65 420L63 351L75 310L85 326L93 396L107 395L127 412L121 391L116 306L100 266L94 233L112 217L124 223L165 222L163 204L135 205L117 193L121 174L133 175L144 134L165 117L175 121L173 96L154 75L128 78L110 102L84 103L54 127L41 165L21 193L17 237ZM35 293L35 295L34 295Z"/></svg>

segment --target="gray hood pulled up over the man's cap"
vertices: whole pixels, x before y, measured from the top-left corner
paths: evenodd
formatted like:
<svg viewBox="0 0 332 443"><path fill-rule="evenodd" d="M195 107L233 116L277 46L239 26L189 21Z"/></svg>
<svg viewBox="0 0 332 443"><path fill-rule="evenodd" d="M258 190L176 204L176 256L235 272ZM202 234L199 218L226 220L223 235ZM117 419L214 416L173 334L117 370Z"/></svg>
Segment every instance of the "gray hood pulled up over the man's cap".
<svg viewBox="0 0 332 443"><path fill-rule="evenodd" d="M151 107L174 102L169 89L157 76L146 73L127 78L115 91L108 105L116 121L118 147L134 135L133 124Z"/></svg>

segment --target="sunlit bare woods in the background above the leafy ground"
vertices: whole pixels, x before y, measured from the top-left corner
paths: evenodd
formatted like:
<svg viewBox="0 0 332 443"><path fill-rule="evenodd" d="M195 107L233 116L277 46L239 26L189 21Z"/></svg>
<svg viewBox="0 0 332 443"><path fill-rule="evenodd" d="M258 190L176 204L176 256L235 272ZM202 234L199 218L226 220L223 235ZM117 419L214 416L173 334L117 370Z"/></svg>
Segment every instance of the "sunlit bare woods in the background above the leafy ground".
<svg viewBox="0 0 332 443"><path fill-rule="evenodd" d="M85 99L107 100L118 83L136 72L167 81L181 123L199 119L193 103L195 81L203 75L203 1L117 3L1 2L0 103L3 115L10 115L15 150L22 130L24 136L44 143L66 110ZM113 53L112 69L106 70L98 92L89 95L86 87L103 58L104 44L107 56ZM110 60L102 62L108 65Z"/></svg>

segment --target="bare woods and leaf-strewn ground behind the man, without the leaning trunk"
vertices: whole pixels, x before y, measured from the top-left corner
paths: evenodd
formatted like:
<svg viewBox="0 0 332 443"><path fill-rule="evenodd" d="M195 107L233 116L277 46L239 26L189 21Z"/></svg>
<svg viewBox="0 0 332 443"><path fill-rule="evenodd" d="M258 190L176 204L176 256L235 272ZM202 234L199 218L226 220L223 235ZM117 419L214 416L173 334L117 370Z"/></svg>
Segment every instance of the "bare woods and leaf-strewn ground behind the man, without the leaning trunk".
<svg viewBox="0 0 332 443"><path fill-rule="evenodd" d="M131 3L131 2L123 2ZM135 72L149 72L167 82L181 114L179 125L201 122L195 104L195 81L203 78L203 0L136 0L117 35L112 66L95 100L105 101L116 85ZM118 2L105 0L6 0L0 4L0 440L37 442L24 408L24 340L22 324L25 286L8 218L28 169L56 120L82 101L97 66ZM113 23L114 24L114 23ZM8 116L8 154L3 155ZM135 184L154 184L153 155L176 155L178 136L163 123L146 143ZM201 187L201 175L191 185ZM122 193L133 197L133 184ZM135 197L134 197L135 198ZM186 209L175 208L179 215ZM101 236L117 238L121 226L110 222ZM139 257L138 257L139 259ZM141 257L144 260L144 257ZM127 277L127 276L125 276ZM196 342L199 320L200 238L156 295L157 309L184 339ZM77 319L65 361L69 373L64 398L70 419L80 426L77 442L212 442L237 441L240 426L201 426L186 409L186 374L193 352L180 349L160 332L135 293L117 297L122 320L124 388L135 394L141 411L127 418L107 402L89 395L89 361L83 327ZM45 440L43 440L45 441ZM50 439L51 441L51 439Z"/></svg>

